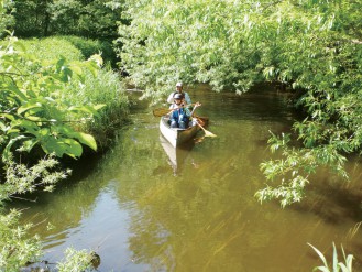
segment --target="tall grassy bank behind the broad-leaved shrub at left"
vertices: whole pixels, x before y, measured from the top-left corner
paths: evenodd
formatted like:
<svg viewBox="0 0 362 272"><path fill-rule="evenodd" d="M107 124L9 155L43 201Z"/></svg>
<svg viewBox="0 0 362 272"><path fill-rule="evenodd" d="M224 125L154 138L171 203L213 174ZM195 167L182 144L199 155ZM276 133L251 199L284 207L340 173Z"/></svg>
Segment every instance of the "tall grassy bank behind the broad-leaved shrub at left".
<svg viewBox="0 0 362 272"><path fill-rule="evenodd" d="M106 48L101 42L75 36L31 39L21 42L28 52L42 61L55 59L59 56L67 61L85 61L91 54ZM109 47L106 53L107 56L111 55ZM83 76L84 83L79 85L70 81L63 97L70 105L106 105L94 120L74 126L92 134L100 149L107 149L114 132L128 122L129 100L125 87L119 74L112 70L110 65L106 65L96 76L90 72Z"/></svg>

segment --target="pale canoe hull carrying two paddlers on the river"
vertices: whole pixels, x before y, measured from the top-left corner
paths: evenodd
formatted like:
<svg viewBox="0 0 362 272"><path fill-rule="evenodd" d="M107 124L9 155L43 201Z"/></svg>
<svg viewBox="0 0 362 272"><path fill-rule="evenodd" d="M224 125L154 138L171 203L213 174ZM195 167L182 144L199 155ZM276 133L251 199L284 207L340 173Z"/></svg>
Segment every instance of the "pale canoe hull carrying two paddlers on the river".
<svg viewBox="0 0 362 272"><path fill-rule="evenodd" d="M204 127L207 123L207 118L198 118L199 123ZM169 118L166 116L161 117L160 120L160 131L162 135L174 146L177 148L196 135L196 133L200 130L200 127L195 124L187 129L178 129L169 127Z"/></svg>

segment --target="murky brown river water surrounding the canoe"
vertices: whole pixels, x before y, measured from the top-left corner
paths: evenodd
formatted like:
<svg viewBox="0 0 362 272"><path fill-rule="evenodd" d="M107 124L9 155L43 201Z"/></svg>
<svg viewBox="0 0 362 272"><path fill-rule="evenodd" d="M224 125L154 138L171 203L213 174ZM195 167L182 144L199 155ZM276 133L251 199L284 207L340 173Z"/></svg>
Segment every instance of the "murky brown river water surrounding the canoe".
<svg viewBox="0 0 362 272"><path fill-rule="evenodd" d="M56 262L73 246L96 250L101 272L311 271L321 262L307 243L331 260L334 241L360 263L360 164L348 165L349 184L316 175L301 204L261 205L254 194L265 186L259 165L271 157L268 131L288 131L295 118L287 97L264 88L237 96L200 87L189 95L202 102L198 113L210 118L217 138L200 131L199 142L176 154L160 138L158 118L141 105L112 150L84 166L85 178L17 204L30 207L25 221L40 222L44 260Z"/></svg>

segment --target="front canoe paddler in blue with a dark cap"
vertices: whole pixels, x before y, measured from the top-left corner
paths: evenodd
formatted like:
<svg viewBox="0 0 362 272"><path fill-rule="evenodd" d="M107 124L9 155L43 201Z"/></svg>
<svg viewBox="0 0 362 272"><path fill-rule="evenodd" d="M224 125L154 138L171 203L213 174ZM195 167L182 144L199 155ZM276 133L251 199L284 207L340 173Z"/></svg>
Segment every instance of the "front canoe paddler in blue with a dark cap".
<svg viewBox="0 0 362 272"><path fill-rule="evenodd" d="M169 112L171 128L187 129L193 121L194 111L201 106L201 104L196 102L193 111L185 107L184 94L176 93L174 96L174 104L169 107L172 110Z"/></svg>

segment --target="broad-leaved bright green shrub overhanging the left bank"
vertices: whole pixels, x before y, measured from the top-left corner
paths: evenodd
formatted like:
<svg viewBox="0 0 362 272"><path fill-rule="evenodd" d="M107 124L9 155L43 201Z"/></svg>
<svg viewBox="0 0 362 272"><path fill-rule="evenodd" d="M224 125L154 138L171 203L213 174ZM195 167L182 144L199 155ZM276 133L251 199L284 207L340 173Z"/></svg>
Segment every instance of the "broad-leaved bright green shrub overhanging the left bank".
<svg viewBox="0 0 362 272"><path fill-rule="evenodd" d="M69 123L92 118L102 106L72 105L63 93L70 79L84 81L85 69L97 73L100 61L68 63L61 57L41 62L11 37L0 54L2 155L18 149L29 152L35 145L47 154L72 157L81 155L81 144L96 150L95 139Z"/></svg>

